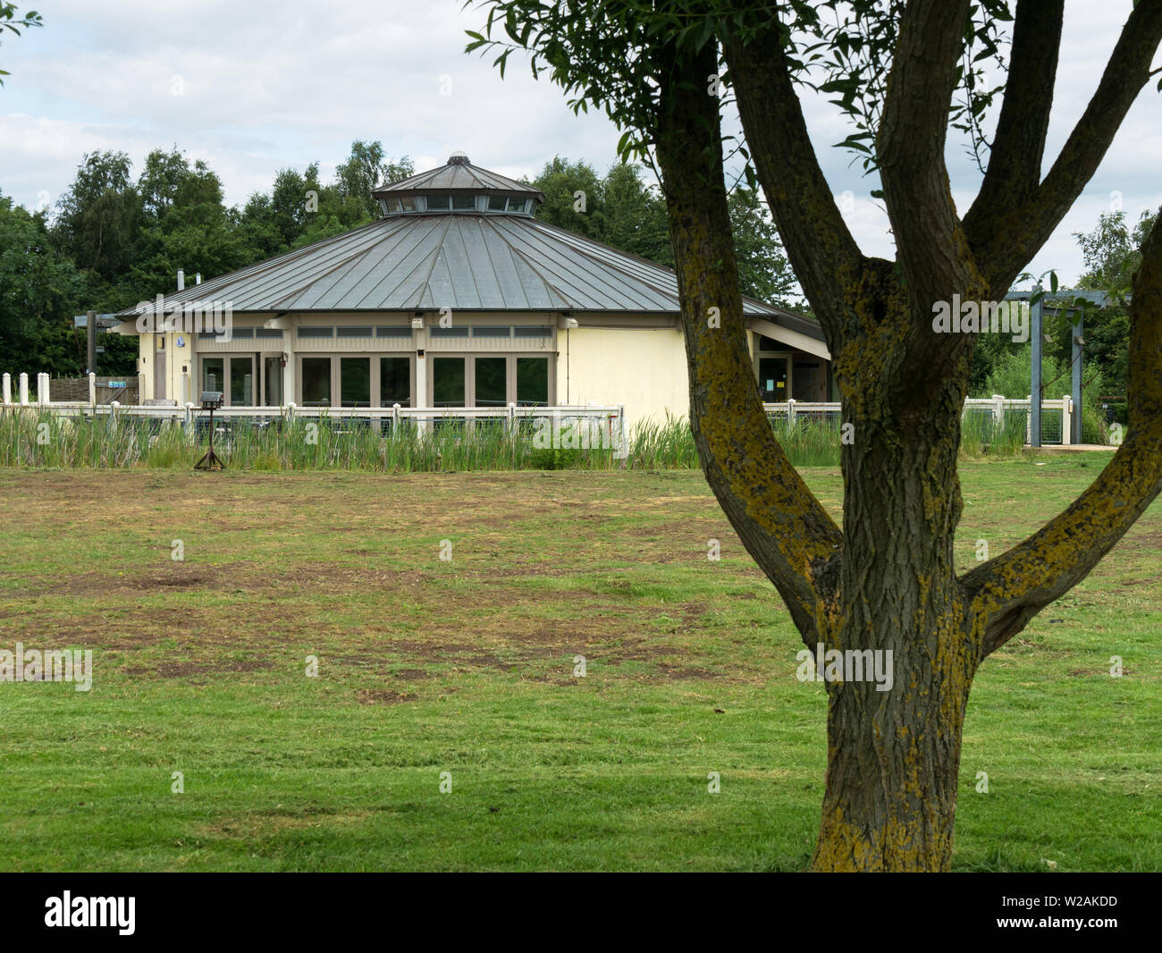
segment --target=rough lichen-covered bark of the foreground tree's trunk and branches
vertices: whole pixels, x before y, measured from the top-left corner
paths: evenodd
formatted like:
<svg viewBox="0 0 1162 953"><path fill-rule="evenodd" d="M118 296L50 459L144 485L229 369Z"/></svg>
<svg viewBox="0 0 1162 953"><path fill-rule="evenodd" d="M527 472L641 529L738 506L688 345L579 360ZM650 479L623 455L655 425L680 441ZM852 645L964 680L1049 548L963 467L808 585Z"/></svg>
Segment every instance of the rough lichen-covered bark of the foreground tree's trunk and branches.
<svg viewBox="0 0 1162 953"><path fill-rule="evenodd" d="M1027 49L1032 27L1052 27L1060 5L1038 16L1021 6L1019 48ZM691 424L708 481L787 601L804 643L891 652L891 690L877 690L871 679L827 682L817 870L949 868L964 710L978 665L1083 579L1162 487L1156 228L1134 287L1125 445L1066 513L1009 553L956 576L956 454L973 338L934 334L932 304L954 294L983 300L1010 280L1013 263L1024 265L1038 236L1047 237L1057 207L1068 208L1117 128L1107 128L1109 117L1093 114L1091 103L1078 128L1096 141L1075 143L1075 153L1055 164L1055 180L1039 185L1052 72L1026 64L1026 101L1013 92L1010 108L1037 122L1032 132L1005 124L1012 138L1000 144L989 194L975 214L982 223L998 221L994 202L1020 195L1032 221L1017 249L998 249L983 225L974 238L956 216L944 165L966 7L912 0L905 8L877 141L899 248L894 263L861 256L844 225L775 26L746 43L724 40L759 179L823 323L844 420L855 425L854 443L842 447L841 531L789 465L762 413L731 252L718 103L705 92L705 77L716 72L713 51L670 50L659 76L657 150L682 301ZM1142 50L1162 38L1160 10L1162 0L1139 3L1127 24L1134 35L1119 42L1132 62L1111 64L1095 102L1116 113L1128 108L1133 95L1114 89L1111 77L1138 83L1134 92L1141 86ZM1157 38L1149 33L1155 17ZM718 328L706 321L711 308L720 313Z"/></svg>

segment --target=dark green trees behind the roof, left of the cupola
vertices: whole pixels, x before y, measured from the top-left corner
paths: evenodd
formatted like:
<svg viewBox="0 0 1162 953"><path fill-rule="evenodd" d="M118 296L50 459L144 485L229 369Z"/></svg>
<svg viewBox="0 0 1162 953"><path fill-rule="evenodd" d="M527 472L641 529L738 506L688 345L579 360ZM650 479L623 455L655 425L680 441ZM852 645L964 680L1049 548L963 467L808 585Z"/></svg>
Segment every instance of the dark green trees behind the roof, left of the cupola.
<svg viewBox="0 0 1162 953"><path fill-rule="evenodd" d="M388 162L380 143L357 139L335 181L320 181L318 163L284 169L271 192L238 209L225 206L209 165L177 146L151 151L136 181L123 152L86 155L51 224L0 200L0 363L76 377L86 347L74 314L173 291L179 268L187 280L215 278L365 224L379 215L371 188L408 174L410 159ZM99 373L135 373L136 339L102 335L101 346Z"/></svg>

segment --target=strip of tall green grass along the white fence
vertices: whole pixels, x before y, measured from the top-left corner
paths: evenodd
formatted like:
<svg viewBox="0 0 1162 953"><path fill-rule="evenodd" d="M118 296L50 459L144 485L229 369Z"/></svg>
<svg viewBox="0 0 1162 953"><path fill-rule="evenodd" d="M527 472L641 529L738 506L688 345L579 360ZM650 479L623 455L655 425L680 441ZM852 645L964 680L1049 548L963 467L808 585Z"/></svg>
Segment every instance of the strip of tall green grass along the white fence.
<svg viewBox="0 0 1162 953"><path fill-rule="evenodd" d="M522 422L529 424L530 422ZM215 452L236 470L351 470L385 473L497 470L693 470L698 452L689 422L682 417L646 421L630 433L626 453L587 446L580 431L566 427L561 446L536 445L535 430L509 431L502 421L466 425L446 421L421 433L401 424L395 431L378 423L322 417L260 424L238 418L215 421ZM795 466L838 466L838 422L772 422L775 439ZM187 431L179 423L117 417L58 417L35 408L0 411L0 466L55 468L191 470L206 452L208 432ZM856 435L858 438L858 435ZM1023 414L968 414L961 453L967 458L1019 453L1025 438ZM597 443L596 440L594 442Z"/></svg>

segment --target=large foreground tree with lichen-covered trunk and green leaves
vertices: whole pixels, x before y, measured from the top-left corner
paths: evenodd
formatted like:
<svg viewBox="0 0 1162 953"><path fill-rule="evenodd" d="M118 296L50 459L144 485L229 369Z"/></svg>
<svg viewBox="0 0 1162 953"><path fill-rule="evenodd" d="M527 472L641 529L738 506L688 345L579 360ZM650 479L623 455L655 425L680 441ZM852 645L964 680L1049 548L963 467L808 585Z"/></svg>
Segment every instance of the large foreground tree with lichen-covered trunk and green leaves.
<svg viewBox="0 0 1162 953"><path fill-rule="evenodd" d="M975 335L935 332L933 306L999 300L1060 224L1150 77L1162 0L1134 6L1043 177L1063 0L1017 0L1016 17L999 0L483 6L469 50L498 49L498 65L530 50L533 72L550 72L574 108L602 108L625 129L625 155L657 159L702 466L804 644L892 653L890 692L827 681L813 868L948 869L978 666L1083 579L1162 488L1162 236L1150 231L1133 284L1125 443L1064 513L963 575L956 456ZM990 64L1002 87L989 87ZM774 439L754 379L724 177L724 67L854 435L842 446L842 528ZM865 256L835 206L797 93L809 84L833 96L853 129L845 145L878 177L895 260ZM989 149L981 129L998 98ZM963 215L945 166L949 128L983 170Z"/></svg>

